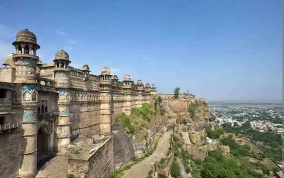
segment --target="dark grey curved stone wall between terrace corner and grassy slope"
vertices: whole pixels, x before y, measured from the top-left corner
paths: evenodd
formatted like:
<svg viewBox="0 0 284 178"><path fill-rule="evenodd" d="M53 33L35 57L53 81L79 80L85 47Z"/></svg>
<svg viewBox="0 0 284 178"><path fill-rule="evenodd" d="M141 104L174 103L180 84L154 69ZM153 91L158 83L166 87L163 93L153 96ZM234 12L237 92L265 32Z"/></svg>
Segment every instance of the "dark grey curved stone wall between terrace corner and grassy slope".
<svg viewBox="0 0 284 178"><path fill-rule="evenodd" d="M127 163L134 158L133 141L130 136L123 130L122 124L113 123L113 158L114 164L120 168L122 164Z"/></svg>

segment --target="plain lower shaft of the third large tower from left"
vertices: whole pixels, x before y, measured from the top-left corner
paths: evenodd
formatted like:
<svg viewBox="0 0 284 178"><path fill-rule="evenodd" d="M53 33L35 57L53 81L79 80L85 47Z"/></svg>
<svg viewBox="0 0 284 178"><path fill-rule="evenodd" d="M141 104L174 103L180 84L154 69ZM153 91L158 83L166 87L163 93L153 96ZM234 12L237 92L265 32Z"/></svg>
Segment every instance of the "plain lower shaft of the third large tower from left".
<svg viewBox="0 0 284 178"><path fill-rule="evenodd" d="M110 100L109 93L101 93L101 124L100 129L103 134L111 133L111 112L110 112Z"/></svg>

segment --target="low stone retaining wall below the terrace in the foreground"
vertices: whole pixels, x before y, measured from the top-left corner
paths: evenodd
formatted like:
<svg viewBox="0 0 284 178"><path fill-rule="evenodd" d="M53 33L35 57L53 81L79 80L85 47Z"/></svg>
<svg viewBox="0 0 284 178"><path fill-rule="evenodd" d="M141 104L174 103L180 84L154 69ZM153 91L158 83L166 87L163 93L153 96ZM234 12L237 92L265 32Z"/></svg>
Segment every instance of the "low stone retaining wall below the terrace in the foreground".
<svg viewBox="0 0 284 178"><path fill-rule="evenodd" d="M68 158L67 167L77 178L108 177L114 171L112 137L86 160Z"/></svg>

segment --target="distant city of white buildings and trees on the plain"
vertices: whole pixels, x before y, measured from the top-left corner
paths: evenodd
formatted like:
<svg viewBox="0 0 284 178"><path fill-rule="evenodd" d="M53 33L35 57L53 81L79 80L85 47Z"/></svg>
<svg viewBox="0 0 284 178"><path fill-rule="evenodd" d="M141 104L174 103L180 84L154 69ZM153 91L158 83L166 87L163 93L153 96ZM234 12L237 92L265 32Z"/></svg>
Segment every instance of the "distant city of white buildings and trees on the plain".
<svg viewBox="0 0 284 178"><path fill-rule="evenodd" d="M218 124L230 122L241 126L250 123L251 128L260 132L277 132L282 134L282 107L280 103L235 103L212 104L210 107Z"/></svg>

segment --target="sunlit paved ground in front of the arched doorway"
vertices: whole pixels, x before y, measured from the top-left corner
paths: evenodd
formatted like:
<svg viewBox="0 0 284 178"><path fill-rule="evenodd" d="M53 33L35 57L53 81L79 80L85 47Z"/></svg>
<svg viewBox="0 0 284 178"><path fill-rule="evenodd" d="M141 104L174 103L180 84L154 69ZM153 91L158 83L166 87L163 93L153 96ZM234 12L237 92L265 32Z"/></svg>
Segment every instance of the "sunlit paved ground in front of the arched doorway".
<svg viewBox="0 0 284 178"><path fill-rule="evenodd" d="M56 156L39 170L36 178L65 178L67 174L67 158Z"/></svg>

